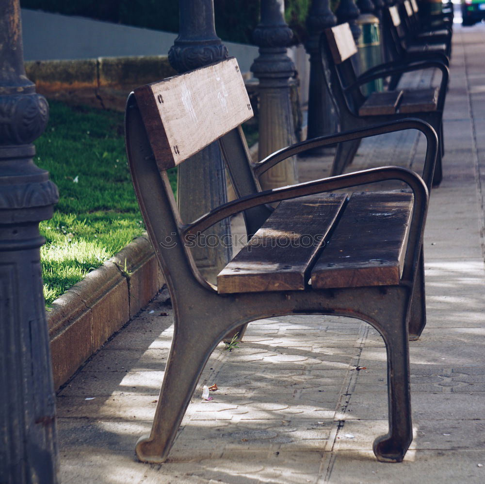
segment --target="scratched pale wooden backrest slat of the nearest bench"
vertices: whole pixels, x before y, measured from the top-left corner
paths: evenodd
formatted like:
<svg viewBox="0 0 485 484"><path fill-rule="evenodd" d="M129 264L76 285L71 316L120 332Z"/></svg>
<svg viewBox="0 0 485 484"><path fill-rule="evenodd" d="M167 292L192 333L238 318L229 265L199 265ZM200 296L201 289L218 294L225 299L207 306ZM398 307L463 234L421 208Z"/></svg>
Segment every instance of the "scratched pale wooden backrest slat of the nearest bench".
<svg viewBox="0 0 485 484"><path fill-rule="evenodd" d="M253 116L234 58L134 91L158 168L177 166Z"/></svg>

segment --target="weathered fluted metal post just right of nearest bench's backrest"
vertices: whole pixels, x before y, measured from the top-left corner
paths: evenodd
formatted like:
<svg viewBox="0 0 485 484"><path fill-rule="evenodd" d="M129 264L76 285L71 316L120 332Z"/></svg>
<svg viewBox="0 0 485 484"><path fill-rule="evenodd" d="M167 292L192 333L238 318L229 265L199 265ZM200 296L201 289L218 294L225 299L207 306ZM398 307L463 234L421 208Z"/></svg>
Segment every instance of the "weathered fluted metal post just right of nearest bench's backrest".
<svg viewBox="0 0 485 484"><path fill-rule="evenodd" d="M286 50L292 36L284 20L284 1L261 0L261 20L253 35L259 57L251 66L259 79L259 159L295 142L290 99L290 78L295 66ZM260 178L263 188L281 187L296 180L293 158Z"/></svg>

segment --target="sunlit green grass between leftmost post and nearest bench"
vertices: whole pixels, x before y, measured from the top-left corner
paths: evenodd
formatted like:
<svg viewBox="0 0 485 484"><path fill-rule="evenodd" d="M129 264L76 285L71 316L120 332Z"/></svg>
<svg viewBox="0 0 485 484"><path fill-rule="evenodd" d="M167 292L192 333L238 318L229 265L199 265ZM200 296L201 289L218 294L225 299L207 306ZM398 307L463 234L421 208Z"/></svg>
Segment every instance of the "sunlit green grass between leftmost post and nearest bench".
<svg viewBox="0 0 485 484"><path fill-rule="evenodd" d="M35 142L35 163L50 172L60 193L53 218L40 224L47 305L144 231L123 114L49 104L49 125Z"/></svg>

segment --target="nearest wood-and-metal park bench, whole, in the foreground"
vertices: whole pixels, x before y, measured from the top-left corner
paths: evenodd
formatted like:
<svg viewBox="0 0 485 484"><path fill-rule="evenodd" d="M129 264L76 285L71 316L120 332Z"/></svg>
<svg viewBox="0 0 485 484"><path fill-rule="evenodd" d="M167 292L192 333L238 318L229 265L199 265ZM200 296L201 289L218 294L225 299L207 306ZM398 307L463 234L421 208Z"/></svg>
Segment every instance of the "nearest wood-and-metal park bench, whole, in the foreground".
<svg viewBox="0 0 485 484"><path fill-rule="evenodd" d="M389 432L376 438L374 453L381 461L401 461L412 440L408 338L418 338L425 324L422 234L436 133L419 120L401 120L304 141L253 165L240 126L252 115L235 59L129 96L129 166L175 313L152 430L136 453L146 462L167 458L204 365L226 334L261 318L317 313L359 318L383 336ZM402 129L426 135L426 183L409 170L381 167L260 191L258 176L289 156ZM166 170L216 140L238 198L183 224ZM391 179L408 188L333 192ZM273 210L269 204L275 202L281 203ZM212 285L186 242L240 212L248 236L254 235Z"/></svg>

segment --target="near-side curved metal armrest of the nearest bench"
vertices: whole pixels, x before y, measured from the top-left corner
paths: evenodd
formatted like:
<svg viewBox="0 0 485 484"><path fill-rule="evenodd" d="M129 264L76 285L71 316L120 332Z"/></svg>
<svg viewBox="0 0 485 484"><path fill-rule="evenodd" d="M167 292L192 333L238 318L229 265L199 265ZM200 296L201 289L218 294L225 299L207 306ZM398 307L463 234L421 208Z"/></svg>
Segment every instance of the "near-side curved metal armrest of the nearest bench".
<svg viewBox="0 0 485 484"><path fill-rule="evenodd" d="M225 203L220 207L211 210L195 220L192 224L182 227L182 236L187 241L191 236L208 229L215 223L226 219L236 213L265 203L280 202L291 198L298 198L306 195L338 190L341 188L355 187L369 183L382 182L386 180L400 180L406 183L413 191L414 204L413 215L410 223L403 270L403 278L410 278L412 271L415 270L420 254L420 242L424 229L424 221L428 206L429 192L422 178L415 172L406 168L385 166L372 168L360 172L347 173L311 182L291 185L289 187L274 188L254 195L240 198L233 202Z"/></svg>

